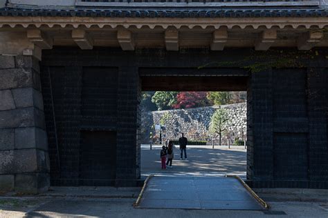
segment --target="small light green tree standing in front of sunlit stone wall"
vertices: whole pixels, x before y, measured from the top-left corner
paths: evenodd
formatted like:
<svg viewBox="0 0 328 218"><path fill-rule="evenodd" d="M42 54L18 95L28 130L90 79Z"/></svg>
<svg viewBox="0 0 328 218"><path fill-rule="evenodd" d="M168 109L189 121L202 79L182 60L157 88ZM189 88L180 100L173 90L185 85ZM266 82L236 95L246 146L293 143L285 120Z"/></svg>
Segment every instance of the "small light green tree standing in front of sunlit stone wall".
<svg viewBox="0 0 328 218"><path fill-rule="evenodd" d="M224 108L219 108L211 117L210 133L219 135L219 146L221 146L222 135L226 132L226 124L228 123L228 112Z"/></svg>

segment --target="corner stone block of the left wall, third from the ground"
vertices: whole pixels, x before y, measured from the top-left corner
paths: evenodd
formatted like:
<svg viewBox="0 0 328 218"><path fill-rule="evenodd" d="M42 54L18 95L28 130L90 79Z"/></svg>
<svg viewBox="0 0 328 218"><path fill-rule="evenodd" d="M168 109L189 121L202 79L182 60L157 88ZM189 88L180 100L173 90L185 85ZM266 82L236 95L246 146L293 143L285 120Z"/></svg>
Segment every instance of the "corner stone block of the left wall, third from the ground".
<svg viewBox="0 0 328 218"><path fill-rule="evenodd" d="M48 150L46 131L35 127L15 129L15 148L39 148Z"/></svg>

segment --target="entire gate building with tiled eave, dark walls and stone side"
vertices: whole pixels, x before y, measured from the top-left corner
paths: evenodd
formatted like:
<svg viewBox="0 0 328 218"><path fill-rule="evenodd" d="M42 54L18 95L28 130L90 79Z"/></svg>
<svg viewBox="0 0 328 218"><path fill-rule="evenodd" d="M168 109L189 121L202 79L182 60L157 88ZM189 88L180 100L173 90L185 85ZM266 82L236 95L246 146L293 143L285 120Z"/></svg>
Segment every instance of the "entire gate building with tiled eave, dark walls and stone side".
<svg viewBox="0 0 328 218"><path fill-rule="evenodd" d="M143 90L246 90L248 184L328 188L325 7L85 4L0 10L1 190L136 186Z"/></svg>

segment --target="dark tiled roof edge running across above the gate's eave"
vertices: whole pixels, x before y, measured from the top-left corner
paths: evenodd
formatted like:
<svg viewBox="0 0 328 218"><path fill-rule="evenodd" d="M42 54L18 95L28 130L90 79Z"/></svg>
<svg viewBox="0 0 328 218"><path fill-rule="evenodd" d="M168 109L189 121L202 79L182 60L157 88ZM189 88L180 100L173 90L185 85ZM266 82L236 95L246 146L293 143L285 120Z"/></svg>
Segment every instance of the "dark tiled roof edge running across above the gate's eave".
<svg viewBox="0 0 328 218"><path fill-rule="evenodd" d="M131 17L131 18L244 18L328 17L324 8L1 8L0 17Z"/></svg>

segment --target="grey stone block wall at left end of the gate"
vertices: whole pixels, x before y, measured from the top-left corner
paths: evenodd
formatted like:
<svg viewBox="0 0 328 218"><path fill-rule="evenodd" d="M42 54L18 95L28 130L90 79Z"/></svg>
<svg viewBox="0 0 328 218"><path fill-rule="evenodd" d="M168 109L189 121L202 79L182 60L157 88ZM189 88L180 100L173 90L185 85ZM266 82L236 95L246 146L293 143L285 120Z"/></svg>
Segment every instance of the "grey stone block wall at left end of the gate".
<svg viewBox="0 0 328 218"><path fill-rule="evenodd" d="M0 192L43 192L49 186L48 143L32 56L0 56Z"/></svg>

